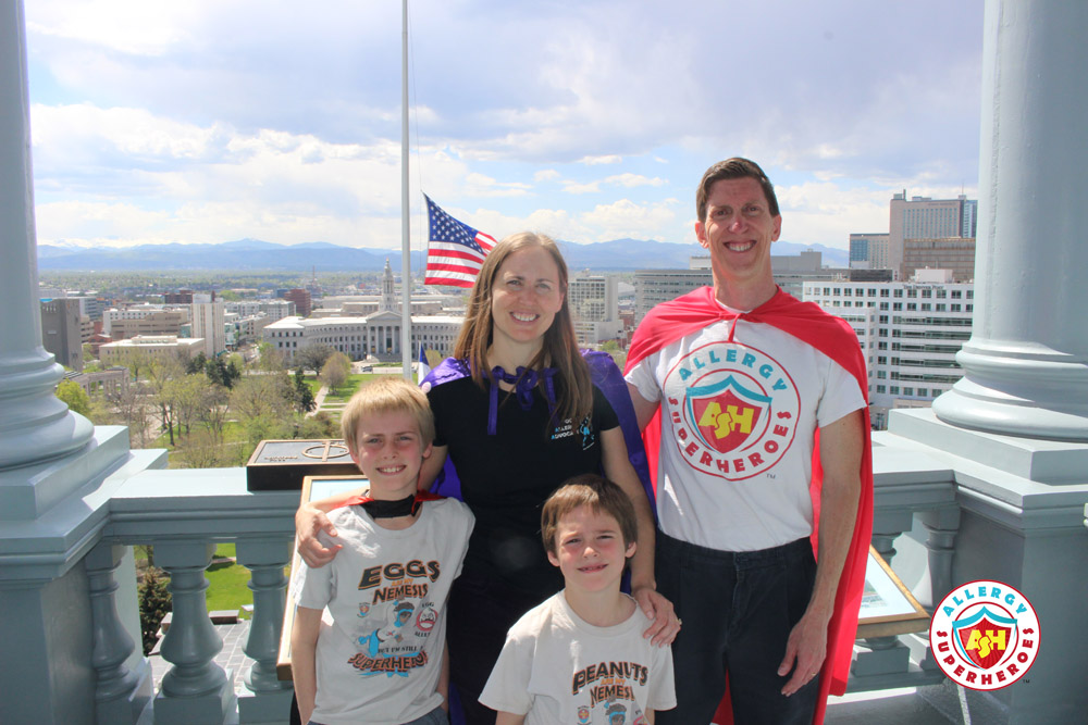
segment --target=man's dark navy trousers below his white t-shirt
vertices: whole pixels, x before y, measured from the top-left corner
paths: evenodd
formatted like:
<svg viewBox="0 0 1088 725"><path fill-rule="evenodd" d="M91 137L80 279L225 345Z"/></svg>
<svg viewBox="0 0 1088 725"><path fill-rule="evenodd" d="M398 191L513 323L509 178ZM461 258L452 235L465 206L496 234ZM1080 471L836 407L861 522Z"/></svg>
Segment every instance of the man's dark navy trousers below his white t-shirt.
<svg viewBox="0 0 1088 725"><path fill-rule="evenodd" d="M819 678L787 698L781 689L793 673L778 675L816 580L808 539L729 552L657 532L656 570L657 590L683 620L672 642L677 707L657 713L657 725L709 723L727 674L738 725L812 722Z"/></svg>

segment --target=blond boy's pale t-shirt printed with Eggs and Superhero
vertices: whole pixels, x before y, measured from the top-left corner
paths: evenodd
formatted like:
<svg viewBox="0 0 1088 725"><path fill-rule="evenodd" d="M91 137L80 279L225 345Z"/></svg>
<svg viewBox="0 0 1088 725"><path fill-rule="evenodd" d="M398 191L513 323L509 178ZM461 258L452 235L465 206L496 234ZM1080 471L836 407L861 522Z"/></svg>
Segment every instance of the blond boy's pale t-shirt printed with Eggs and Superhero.
<svg viewBox="0 0 1088 725"><path fill-rule="evenodd" d="M318 636L312 720L396 725L442 704L435 691L446 600L473 517L455 499L423 503L408 528L374 524L361 507L329 514L343 543L331 564L295 573L295 600L327 613ZM327 625L329 616L332 624Z"/></svg>

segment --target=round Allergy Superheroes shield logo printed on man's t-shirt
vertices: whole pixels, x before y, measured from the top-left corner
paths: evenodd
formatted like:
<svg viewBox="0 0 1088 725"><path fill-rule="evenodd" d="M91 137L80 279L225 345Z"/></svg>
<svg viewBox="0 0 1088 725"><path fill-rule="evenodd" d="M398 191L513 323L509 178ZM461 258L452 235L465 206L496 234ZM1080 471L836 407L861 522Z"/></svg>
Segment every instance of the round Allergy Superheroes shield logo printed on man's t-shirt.
<svg viewBox="0 0 1088 725"><path fill-rule="evenodd" d="M670 371L673 441L687 463L742 480L769 471L796 434L796 385L777 360L729 342L694 349ZM680 391L682 400L675 396Z"/></svg>

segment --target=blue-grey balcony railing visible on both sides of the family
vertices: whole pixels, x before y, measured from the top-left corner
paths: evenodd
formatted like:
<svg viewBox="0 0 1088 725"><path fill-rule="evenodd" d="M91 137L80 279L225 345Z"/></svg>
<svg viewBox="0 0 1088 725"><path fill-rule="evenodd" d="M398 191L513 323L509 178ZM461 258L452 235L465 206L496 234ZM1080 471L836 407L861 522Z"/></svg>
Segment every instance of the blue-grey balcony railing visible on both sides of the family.
<svg viewBox="0 0 1088 725"><path fill-rule="evenodd" d="M874 462L873 543L894 565L897 539L920 518L928 533L928 574L916 593L929 603L930 591L952 586L959 526L952 472L924 455L879 446ZM246 490L244 468L148 470L112 495L100 539L84 561L91 585L98 722L136 722L139 710L160 724L286 722L290 684L276 678L275 660L297 504L295 491ZM205 572L219 542L234 542L238 563L251 573L254 618L245 652L254 664L242 673L215 663L223 645L208 617ZM156 564L171 577L172 624L160 647L170 670L153 699L150 692L135 693L147 685L125 665L136 645L118 614L120 598L135 597L131 585L118 584L133 580L118 576L121 563L131 561L124 548L133 545L154 546ZM850 690L940 682L939 671L923 662L919 641L910 636L858 640ZM236 696L238 677L244 685Z"/></svg>

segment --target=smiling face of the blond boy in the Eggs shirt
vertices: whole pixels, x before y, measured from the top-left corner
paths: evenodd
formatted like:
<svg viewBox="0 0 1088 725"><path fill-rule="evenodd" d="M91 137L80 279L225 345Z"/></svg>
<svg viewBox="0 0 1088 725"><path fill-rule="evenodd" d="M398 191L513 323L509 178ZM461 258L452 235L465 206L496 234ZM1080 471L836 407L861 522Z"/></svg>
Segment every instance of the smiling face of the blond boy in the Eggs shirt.
<svg viewBox="0 0 1088 725"><path fill-rule="evenodd" d="M431 454L408 411L366 415L359 421L351 460L370 479L373 499L395 501L416 492L419 468Z"/></svg>

